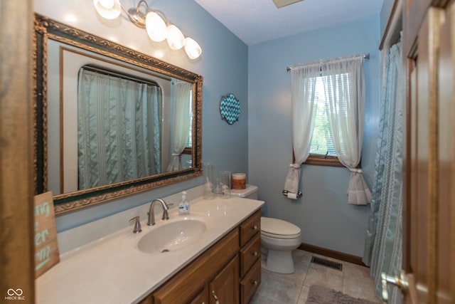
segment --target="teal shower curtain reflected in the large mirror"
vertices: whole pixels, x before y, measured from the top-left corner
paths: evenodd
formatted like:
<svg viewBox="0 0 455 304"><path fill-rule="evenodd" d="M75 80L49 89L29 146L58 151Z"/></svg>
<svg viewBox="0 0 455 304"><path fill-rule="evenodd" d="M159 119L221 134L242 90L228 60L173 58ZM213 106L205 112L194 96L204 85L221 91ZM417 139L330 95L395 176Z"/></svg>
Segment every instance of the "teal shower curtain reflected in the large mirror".
<svg viewBox="0 0 455 304"><path fill-rule="evenodd" d="M159 85L84 66L77 99L78 189L161 173Z"/></svg>

